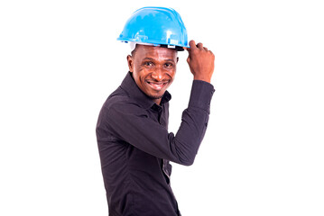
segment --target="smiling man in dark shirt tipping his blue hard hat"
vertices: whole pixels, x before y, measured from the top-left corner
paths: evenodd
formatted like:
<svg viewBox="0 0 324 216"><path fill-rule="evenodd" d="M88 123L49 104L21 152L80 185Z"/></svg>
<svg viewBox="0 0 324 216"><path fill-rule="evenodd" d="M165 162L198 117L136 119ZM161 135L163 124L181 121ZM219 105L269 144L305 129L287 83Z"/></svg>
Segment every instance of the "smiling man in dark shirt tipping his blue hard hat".
<svg viewBox="0 0 324 216"><path fill-rule="evenodd" d="M134 41L123 35L133 28L129 26L132 19L140 26L133 36L141 32L147 37L140 42L137 38L132 55L127 56L129 72L107 98L97 121L97 143L111 216L181 215L171 191L169 161L190 166L207 128L214 93L210 84L214 55L194 40L190 40L189 48L183 24L176 26L176 30L171 26L166 32L173 43L167 37L164 41L165 35L160 35L160 41L150 41L152 35L147 26L159 31L164 16L168 16L169 25L170 17L176 17L176 23L182 22L180 15L170 8L150 7L136 11L126 23L121 40ZM147 19L146 23L141 25L141 19ZM179 35L174 32L179 28L182 28L181 37L175 41ZM189 52L187 61L194 80L189 106L182 113L181 127L174 135L168 132L171 94L166 89L174 79L181 46Z"/></svg>

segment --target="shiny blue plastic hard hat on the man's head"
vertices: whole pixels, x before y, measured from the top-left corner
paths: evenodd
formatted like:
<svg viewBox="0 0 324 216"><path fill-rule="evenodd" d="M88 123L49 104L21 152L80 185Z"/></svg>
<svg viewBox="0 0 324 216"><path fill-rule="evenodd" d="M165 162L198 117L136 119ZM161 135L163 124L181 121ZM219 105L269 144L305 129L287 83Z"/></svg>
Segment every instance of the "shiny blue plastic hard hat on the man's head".
<svg viewBox="0 0 324 216"><path fill-rule="evenodd" d="M117 40L176 49L189 48L187 30L181 15L166 7L143 7L135 11Z"/></svg>

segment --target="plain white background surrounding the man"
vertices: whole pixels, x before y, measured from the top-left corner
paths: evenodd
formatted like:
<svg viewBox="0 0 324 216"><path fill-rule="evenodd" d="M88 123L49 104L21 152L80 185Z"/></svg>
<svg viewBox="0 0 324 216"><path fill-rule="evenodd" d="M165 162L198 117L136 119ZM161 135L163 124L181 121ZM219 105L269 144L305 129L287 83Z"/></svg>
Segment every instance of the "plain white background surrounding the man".
<svg viewBox="0 0 324 216"><path fill-rule="evenodd" d="M161 1L160 1L161 2ZM322 1L1 1L0 215L107 215L101 105L134 10L170 6L216 55L208 131L171 185L190 215L324 215ZM179 54L170 130L192 76Z"/></svg>

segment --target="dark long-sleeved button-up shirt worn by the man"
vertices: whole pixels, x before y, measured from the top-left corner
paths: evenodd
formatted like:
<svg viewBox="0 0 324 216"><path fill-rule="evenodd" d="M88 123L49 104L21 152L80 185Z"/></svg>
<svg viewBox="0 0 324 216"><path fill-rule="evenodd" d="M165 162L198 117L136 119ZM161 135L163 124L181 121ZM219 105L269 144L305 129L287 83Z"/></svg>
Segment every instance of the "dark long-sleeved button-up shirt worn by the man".
<svg viewBox="0 0 324 216"><path fill-rule="evenodd" d="M107 98L97 121L97 144L109 215L181 215L171 190L169 161L190 166L204 137L213 85L194 80L189 106L174 135L168 131L167 91L161 105L131 73Z"/></svg>

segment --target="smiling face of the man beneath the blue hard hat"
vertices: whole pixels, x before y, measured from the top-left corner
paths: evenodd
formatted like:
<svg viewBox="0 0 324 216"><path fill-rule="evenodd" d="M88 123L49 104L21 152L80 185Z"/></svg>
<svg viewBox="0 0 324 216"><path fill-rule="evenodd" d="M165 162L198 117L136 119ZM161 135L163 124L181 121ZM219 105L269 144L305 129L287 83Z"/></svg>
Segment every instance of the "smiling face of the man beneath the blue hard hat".
<svg viewBox="0 0 324 216"><path fill-rule="evenodd" d="M127 61L136 85L155 103L160 104L175 76L177 51L137 44L133 56L127 56Z"/></svg>

